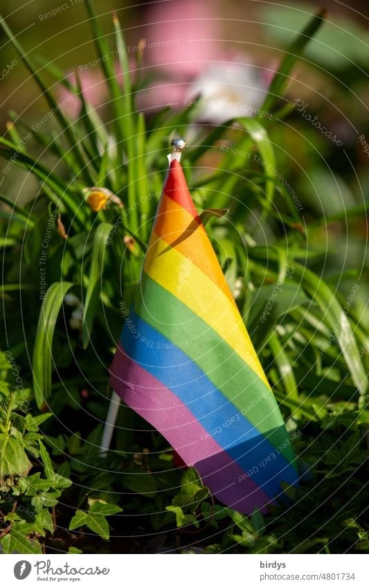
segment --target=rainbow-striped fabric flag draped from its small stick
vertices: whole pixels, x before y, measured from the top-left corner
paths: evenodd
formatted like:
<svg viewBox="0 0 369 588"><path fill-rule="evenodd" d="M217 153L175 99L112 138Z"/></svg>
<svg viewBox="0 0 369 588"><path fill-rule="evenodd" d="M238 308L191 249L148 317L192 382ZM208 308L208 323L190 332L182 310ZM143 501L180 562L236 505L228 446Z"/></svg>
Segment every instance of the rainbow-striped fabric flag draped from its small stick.
<svg viewBox="0 0 369 588"><path fill-rule="evenodd" d="M297 485L296 459L226 278L172 160L111 386L223 504L250 514Z"/></svg>

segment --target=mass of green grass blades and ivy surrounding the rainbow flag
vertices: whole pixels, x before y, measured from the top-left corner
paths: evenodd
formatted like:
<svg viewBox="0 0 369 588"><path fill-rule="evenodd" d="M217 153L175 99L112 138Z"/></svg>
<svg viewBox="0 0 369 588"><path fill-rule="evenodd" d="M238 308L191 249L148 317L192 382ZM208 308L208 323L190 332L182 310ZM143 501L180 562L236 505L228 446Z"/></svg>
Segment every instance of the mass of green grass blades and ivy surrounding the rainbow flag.
<svg viewBox="0 0 369 588"><path fill-rule="evenodd" d="M86 6L102 57L110 52L108 37L91 1ZM78 76L73 84L55 64L37 66L2 21L60 125L53 138L33 132L33 140L22 145L19 136L27 125L10 113L17 122L0 139L0 154L28 170L39 188L25 206L0 195L0 222L6 229L0 242L6 247L2 296L10 317L3 319L7 355L0 355L4 553L43 553L54 547L99 553L107 549L107 540L117 550L132 549L122 535L143 535L147 549L183 553L194 537L201 553L368 550L362 504L369 330L346 292L363 282L357 268L342 288L334 276L317 273L316 260L325 251L307 250L307 244L326 219L317 220L309 208L310 186L303 215L296 209L283 181L296 170L287 168L276 149L278 141L283 145L289 139L279 123L291 113L290 107L276 108L293 66L322 22L322 13L315 15L286 52L261 108L271 110L272 118L237 118L210 133L206 125L197 125L195 146L182 159L304 474L300 488L286 488L290 505L276 504L267 515L256 510L246 517L215 504L193 468L173 467L165 440L127 407L120 408L114 450L106 456L99 452L107 366L138 284L168 136L186 136L193 107L165 108L147 119L137 112L138 87L129 75L117 17L109 39L116 44L123 85L114 62L100 60L109 87L110 123L89 105ZM58 107L46 78L80 100L75 121ZM232 145L233 152L225 145ZM36 155L39 146L42 161ZM204 166L212 171L201 171L204 158L214 154L215 164ZM111 190L124 208L114 198L93 211L83 191L91 186ZM214 208L221 211L210 214ZM356 204L330 219L356 219L366 210ZM41 256L46 258L44 295ZM159 539L146 545L151 535Z"/></svg>

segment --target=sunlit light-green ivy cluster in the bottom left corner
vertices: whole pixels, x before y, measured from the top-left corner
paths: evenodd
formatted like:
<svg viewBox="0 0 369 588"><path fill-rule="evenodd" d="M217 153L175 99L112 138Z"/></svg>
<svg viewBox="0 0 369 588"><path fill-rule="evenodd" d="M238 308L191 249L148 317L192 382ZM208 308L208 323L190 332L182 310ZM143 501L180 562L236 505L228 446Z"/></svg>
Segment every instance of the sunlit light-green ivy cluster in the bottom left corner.
<svg viewBox="0 0 369 588"><path fill-rule="evenodd" d="M58 504L62 491L72 483L55 472L42 442L39 425L51 413L33 417L30 413L25 415L27 407L24 391L1 394L0 422L5 431L0 434L3 553L42 553L42 538L46 533L55 533L50 508Z"/></svg>

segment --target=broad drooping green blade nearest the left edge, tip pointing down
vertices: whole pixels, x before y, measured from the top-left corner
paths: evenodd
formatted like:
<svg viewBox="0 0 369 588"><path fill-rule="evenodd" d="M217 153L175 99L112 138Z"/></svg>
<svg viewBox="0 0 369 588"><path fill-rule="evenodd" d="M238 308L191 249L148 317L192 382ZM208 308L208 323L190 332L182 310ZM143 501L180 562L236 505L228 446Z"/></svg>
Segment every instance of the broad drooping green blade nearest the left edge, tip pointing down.
<svg viewBox="0 0 369 588"><path fill-rule="evenodd" d="M44 410L51 394L52 346L55 324L71 282L52 284L45 294L39 313L35 346L33 348L33 388L37 407Z"/></svg>

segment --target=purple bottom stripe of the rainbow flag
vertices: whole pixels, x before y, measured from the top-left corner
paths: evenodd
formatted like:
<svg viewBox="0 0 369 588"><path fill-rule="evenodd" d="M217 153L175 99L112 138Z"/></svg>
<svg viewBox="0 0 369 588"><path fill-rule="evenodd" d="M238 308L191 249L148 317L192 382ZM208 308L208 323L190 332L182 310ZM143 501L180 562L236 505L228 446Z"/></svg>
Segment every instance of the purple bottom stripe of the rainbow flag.
<svg viewBox="0 0 369 588"><path fill-rule="evenodd" d="M127 357L120 345L110 371L111 386L120 398L161 431L183 461L196 467L204 484L220 501L241 513L251 514L255 508L267 512L264 506L271 504L271 498L208 434L186 405Z"/></svg>

